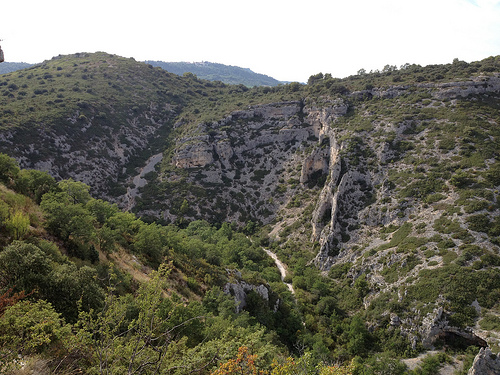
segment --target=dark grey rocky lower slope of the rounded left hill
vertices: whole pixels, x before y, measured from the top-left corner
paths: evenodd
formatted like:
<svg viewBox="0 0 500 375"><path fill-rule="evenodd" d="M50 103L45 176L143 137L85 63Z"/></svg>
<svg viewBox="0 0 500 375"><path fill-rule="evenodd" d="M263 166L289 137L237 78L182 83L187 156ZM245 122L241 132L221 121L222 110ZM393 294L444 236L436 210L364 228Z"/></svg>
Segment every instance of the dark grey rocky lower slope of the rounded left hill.
<svg viewBox="0 0 500 375"><path fill-rule="evenodd" d="M89 113L90 112L90 113ZM110 123L92 109L75 110L53 129L8 130L0 134L2 149L9 149L23 168L49 172L57 179L73 178L106 195L134 157L148 149L157 132L175 113L158 103L141 112L130 111L124 123Z"/></svg>

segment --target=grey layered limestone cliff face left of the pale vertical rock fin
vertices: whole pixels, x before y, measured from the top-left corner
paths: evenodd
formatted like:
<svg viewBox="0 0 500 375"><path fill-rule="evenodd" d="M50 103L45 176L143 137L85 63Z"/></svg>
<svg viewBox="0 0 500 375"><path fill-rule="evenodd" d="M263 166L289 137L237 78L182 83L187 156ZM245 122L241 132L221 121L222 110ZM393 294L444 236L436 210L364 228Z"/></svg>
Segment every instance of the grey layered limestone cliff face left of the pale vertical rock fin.
<svg viewBox="0 0 500 375"><path fill-rule="evenodd" d="M288 199L278 186L287 190L290 170L295 175L302 153L318 140L319 127L308 124L305 116L300 101L258 105L199 124L199 135L179 139L171 164L184 170L183 176L187 172L184 178L190 186L199 187L198 195L188 196L197 202L190 211L193 217L242 223L273 220ZM328 169L322 153L318 155L304 170L304 181L314 171ZM175 204L165 198L162 215L168 219L176 215Z"/></svg>

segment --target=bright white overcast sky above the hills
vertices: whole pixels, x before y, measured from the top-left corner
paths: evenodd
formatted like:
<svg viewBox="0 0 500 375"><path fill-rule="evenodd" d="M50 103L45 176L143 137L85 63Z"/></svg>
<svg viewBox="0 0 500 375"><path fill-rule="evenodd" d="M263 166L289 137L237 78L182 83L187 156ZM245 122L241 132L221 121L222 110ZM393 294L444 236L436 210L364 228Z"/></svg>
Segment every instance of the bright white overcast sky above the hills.
<svg viewBox="0 0 500 375"><path fill-rule="evenodd" d="M500 1L4 0L0 39L10 62L104 51L306 82L500 55Z"/></svg>

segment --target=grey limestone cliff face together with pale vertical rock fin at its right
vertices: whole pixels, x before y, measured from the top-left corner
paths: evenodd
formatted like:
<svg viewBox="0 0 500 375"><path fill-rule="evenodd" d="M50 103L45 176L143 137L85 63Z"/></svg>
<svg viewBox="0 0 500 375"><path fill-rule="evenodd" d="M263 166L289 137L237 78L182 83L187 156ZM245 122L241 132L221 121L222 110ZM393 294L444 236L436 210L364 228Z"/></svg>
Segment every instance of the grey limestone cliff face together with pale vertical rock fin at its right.
<svg viewBox="0 0 500 375"><path fill-rule="evenodd" d="M317 237L339 182L340 145L332 125L348 107L342 99L325 99L236 111L200 124L196 132L201 135L179 139L172 164L188 171L187 180L209 190L207 195L219 197L202 203L205 211L240 222L270 222L294 194L328 176L313 214ZM171 217L165 208L164 218Z"/></svg>

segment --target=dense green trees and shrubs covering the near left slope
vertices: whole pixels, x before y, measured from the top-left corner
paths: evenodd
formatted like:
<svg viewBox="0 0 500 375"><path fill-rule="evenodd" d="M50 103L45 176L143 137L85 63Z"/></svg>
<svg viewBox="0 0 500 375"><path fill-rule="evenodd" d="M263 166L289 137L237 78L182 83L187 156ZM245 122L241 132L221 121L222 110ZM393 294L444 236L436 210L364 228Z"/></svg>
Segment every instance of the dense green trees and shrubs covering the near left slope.
<svg viewBox="0 0 500 375"><path fill-rule="evenodd" d="M300 309L270 258L229 224L147 224L90 197L80 182L56 183L0 156L3 371L21 354L63 373L210 372L243 347L270 369L286 353L304 353L295 348L300 337L317 341L301 332ZM237 313L222 288L240 279L265 283L269 297L249 293ZM324 305L335 309L333 300ZM352 326L348 335L367 334L349 321L339 321ZM319 350L304 361L313 368L327 357Z"/></svg>

